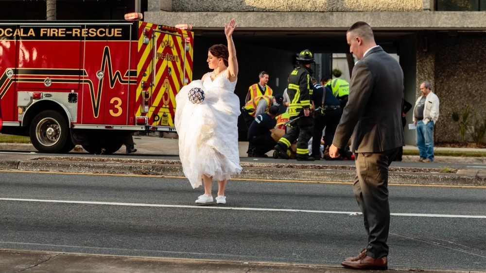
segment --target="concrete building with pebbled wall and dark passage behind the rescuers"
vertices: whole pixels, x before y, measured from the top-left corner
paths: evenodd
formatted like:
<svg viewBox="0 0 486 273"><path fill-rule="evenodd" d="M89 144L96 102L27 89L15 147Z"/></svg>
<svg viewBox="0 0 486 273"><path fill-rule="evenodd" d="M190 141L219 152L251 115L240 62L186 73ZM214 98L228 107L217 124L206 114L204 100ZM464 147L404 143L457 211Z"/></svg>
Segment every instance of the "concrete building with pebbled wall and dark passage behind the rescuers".
<svg viewBox="0 0 486 273"><path fill-rule="evenodd" d="M469 105L478 117L485 114L486 0L148 0L147 7L146 21L192 25L195 79L208 72L208 48L226 43L224 24L236 19L236 94L242 104L261 70L270 73L269 84L282 93L297 52L348 53L347 28L365 21L377 44L397 54L406 100L415 103L421 81L433 84L440 99L436 142L460 141L453 111ZM405 128L405 136L407 144L415 144L415 130Z"/></svg>

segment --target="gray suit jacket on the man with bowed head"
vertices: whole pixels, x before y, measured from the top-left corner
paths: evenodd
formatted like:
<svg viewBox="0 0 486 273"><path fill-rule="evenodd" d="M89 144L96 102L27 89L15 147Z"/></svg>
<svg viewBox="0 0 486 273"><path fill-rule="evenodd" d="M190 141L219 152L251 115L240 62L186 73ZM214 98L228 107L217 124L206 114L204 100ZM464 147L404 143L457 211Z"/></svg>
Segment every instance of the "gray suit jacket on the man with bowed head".
<svg viewBox="0 0 486 273"><path fill-rule="evenodd" d="M405 145L401 124L403 71L381 47L368 51L351 75L349 100L332 144L351 151L373 153ZM353 131L354 129L354 131Z"/></svg>

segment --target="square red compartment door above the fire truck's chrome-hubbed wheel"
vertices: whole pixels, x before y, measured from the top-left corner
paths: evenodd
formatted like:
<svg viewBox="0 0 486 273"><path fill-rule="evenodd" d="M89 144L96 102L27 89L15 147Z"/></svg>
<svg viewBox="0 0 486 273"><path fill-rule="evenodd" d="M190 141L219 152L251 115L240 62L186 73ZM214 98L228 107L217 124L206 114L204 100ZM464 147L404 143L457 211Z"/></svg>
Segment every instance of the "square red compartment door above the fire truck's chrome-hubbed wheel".
<svg viewBox="0 0 486 273"><path fill-rule="evenodd" d="M20 90L64 89L80 86L81 26L19 26L18 80Z"/></svg>

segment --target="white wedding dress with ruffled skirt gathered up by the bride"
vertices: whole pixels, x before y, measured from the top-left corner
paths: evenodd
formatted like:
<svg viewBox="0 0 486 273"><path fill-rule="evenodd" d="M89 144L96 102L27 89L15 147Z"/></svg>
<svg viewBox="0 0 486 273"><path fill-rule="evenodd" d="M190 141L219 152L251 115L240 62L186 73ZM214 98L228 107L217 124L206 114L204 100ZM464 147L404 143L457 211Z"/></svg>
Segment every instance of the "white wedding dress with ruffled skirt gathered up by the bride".
<svg viewBox="0 0 486 273"><path fill-rule="evenodd" d="M179 157L192 188L202 185L202 175L213 180L230 179L242 171L238 150L240 99L234 94L236 81L226 73L214 80L194 80L175 96L175 128L179 134ZM204 90L204 101L193 104L191 88Z"/></svg>

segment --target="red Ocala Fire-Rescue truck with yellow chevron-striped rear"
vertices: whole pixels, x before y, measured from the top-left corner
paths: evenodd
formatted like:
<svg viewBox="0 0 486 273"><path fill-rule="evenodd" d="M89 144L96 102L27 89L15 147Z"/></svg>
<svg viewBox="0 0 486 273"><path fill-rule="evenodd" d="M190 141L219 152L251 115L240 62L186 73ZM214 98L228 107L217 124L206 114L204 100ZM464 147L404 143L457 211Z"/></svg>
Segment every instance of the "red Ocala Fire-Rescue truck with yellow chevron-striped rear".
<svg viewBox="0 0 486 273"><path fill-rule="evenodd" d="M4 134L39 152L111 154L134 131L175 131L193 33L135 21L0 21Z"/></svg>

